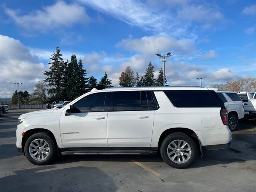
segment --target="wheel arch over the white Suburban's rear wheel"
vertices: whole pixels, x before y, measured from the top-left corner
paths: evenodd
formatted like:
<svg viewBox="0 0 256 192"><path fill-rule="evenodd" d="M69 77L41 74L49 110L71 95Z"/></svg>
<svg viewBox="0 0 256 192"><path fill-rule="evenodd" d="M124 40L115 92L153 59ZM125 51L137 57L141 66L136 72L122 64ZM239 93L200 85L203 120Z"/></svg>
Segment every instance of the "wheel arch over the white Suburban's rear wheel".
<svg viewBox="0 0 256 192"><path fill-rule="evenodd" d="M198 138L197 134L193 130L188 129L188 128L169 128L169 129L165 130L164 132L162 132L162 134L160 135L160 138L158 140L158 147L157 147L158 152L160 150L160 146L161 146L164 138L166 138L166 136L168 136L172 133L175 133L175 132L182 132L182 133L185 133L188 136L190 136L194 140L194 142L196 143L196 147L198 149L198 152L200 153L200 156L201 157L203 156L200 139Z"/></svg>

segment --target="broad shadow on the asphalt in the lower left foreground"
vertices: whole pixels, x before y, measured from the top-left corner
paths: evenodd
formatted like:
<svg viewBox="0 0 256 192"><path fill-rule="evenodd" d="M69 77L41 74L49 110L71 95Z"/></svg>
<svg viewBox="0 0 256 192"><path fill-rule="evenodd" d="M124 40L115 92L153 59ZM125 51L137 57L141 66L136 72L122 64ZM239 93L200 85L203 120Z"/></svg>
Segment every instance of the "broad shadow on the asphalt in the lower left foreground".
<svg viewBox="0 0 256 192"><path fill-rule="evenodd" d="M0 178L0 189L3 192L114 192L117 186L110 176L96 167L58 169L55 166L41 166Z"/></svg>

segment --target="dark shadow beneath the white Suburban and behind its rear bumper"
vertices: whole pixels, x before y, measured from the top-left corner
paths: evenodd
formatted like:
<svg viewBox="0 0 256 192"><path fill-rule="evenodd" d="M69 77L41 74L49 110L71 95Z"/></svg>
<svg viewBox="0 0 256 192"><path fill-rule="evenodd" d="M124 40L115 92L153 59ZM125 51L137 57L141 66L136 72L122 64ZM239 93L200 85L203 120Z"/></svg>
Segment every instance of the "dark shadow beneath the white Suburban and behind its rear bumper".
<svg viewBox="0 0 256 192"><path fill-rule="evenodd" d="M239 156L238 156L239 154ZM136 155L94 155L94 156L60 156L53 164L65 164L79 161L95 162L164 162L160 156L136 156ZM224 150L204 152L203 158L198 156L197 161L190 168L199 168L212 165L227 165L234 162L256 160L256 140L254 134L234 135L230 147Z"/></svg>

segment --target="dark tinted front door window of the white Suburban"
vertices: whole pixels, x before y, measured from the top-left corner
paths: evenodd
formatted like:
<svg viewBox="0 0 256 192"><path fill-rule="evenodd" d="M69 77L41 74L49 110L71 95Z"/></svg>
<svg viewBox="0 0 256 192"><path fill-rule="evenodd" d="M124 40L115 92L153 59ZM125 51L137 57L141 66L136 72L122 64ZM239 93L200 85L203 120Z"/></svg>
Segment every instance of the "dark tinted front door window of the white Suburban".
<svg viewBox="0 0 256 192"><path fill-rule="evenodd" d="M72 112L102 112L104 111L106 92L85 96L73 105Z"/></svg>

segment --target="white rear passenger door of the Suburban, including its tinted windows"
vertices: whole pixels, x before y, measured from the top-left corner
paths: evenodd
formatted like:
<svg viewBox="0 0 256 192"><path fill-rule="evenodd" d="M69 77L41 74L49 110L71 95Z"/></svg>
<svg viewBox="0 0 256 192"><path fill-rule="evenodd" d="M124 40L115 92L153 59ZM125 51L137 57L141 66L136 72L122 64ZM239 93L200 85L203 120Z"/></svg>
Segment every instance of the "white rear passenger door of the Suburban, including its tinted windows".
<svg viewBox="0 0 256 192"><path fill-rule="evenodd" d="M107 121L110 149L150 147L153 122L149 91L110 92Z"/></svg>

